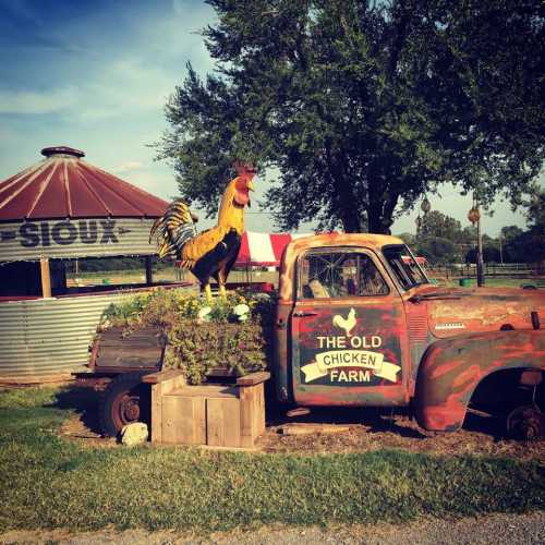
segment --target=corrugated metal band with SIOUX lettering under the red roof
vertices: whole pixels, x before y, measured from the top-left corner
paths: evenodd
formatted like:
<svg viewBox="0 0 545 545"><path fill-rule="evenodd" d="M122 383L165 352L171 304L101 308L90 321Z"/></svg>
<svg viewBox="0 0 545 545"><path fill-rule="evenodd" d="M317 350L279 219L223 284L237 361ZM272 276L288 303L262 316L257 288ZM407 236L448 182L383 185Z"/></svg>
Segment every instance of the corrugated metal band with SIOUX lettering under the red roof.
<svg viewBox="0 0 545 545"><path fill-rule="evenodd" d="M155 219L90 218L0 223L0 263L44 257L152 255Z"/></svg>

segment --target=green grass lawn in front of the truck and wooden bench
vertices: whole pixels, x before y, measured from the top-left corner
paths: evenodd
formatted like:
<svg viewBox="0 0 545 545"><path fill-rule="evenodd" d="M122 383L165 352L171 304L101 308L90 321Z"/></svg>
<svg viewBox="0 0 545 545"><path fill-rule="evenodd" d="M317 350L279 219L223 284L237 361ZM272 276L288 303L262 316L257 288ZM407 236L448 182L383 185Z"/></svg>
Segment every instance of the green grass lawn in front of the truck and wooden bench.
<svg viewBox="0 0 545 545"><path fill-rule="evenodd" d="M206 533L545 508L537 461L84 448L58 436L72 410L59 399L53 389L0 392L0 531L113 524Z"/></svg>

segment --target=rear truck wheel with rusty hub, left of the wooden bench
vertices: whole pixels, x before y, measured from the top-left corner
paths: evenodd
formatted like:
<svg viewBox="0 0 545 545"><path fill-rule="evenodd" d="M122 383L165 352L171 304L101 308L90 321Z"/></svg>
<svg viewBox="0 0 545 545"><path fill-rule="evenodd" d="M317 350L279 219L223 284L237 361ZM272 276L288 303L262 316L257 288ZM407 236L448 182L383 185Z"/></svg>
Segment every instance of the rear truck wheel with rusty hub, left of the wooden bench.
<svg viewBox="0 0 545 545"><path fill-rule="evenodd" d="M118 375L100 399L99 422L102 434L116 437L124 425L150 422L149 385L142 383L142 373Z"/></svg>

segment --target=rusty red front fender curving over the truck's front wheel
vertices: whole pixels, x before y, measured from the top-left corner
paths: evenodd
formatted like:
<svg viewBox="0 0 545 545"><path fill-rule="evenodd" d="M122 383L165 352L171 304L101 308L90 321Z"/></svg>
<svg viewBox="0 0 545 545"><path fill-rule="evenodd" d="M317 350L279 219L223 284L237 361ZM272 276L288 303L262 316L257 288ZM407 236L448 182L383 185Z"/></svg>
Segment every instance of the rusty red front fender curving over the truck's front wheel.
<svg viewBox="0 0 545 545"><path fill-rule="evenodd" d="M434 342L416 378L419 424L429 431L459 429L479 383L508 368L545 371L545 330L471 334Z"/></svg>

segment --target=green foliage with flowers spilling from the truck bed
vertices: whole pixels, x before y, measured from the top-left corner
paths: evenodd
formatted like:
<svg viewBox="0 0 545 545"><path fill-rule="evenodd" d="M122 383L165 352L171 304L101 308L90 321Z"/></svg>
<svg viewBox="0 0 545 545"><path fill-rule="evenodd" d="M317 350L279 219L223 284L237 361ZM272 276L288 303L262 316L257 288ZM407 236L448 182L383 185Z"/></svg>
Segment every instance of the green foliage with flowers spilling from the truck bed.
<svg viewBox="0 0 545 545"><path fill-rule="evenodd" d="M247 305L249 315L233 313ZM205 318L199 312L208 303L182 289L156 288L111 305L100 328L118 327L129 335L154 327L166 340L164 368L181 368L190 384L201 384L214 367L234 376L267 368L270 356L270 322L274 299L243 291L217 298ZM128 341L130 342L130 341Z"/></svg>

